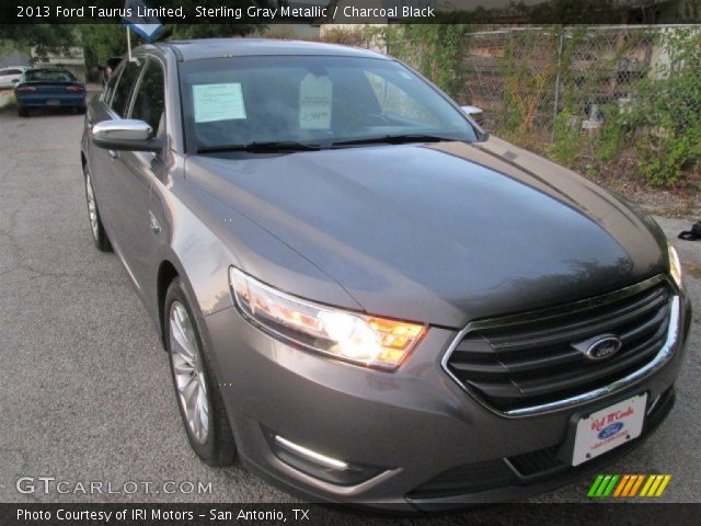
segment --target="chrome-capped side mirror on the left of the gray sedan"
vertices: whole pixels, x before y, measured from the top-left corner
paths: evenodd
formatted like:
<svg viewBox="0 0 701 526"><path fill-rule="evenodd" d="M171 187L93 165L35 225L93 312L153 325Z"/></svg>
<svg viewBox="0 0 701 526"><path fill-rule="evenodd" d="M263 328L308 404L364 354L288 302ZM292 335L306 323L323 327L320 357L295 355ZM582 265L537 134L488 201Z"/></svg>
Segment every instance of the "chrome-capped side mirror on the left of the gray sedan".
<svg viewBox="0 0 701 526"><path fill-rule="evenodd" d="M93 125L90 137L95 146L117 151L158 151L163 140L153 137L153 128L143 121L118 118Z"/></svg>

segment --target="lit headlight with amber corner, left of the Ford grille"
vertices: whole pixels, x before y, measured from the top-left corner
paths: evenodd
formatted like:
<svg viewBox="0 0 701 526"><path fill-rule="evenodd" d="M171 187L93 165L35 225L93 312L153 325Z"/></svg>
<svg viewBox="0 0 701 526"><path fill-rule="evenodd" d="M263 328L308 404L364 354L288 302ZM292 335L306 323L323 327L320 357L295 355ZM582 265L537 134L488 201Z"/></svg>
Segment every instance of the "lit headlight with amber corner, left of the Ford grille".
<svg viewBox="0 0 701 526"><path fill-rule="evenodd" d="M325 307L276 290L231 267L229 281L241 312L277 336L334 358L394 370L426 325Z"/></svg>

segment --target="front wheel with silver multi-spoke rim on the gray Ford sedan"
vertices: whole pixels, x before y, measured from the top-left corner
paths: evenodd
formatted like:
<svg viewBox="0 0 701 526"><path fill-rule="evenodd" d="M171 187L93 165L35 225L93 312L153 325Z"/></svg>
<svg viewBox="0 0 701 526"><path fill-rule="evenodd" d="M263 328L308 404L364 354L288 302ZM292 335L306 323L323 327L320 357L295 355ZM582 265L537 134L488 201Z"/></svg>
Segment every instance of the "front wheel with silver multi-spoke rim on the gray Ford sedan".
<svg viewBox="0 0 701 526"><path fill-rule="evenodd" d="M197 456L208 466L230 466L237 457L235 443L217 375L211 369L211 353L207 340L200 336L193 305L180 278L173 279L165 293L163 342L170 358L175 399L187 439ZM191 356L189 363L186 355ZM197 397L203 400L199 404Z"/></svg>

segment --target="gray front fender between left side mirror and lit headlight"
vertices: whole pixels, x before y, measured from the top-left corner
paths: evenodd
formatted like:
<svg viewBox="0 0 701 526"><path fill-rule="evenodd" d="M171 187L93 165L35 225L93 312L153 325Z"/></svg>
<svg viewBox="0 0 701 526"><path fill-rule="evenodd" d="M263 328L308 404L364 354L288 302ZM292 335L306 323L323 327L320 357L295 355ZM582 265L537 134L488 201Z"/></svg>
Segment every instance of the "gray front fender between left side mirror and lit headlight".
<svg viewBox="0 0 701 526"><path fill-rule="evenodd" d="M176 162L177 163L177 162ZM229 267L301 297L349 310L361 307L336 282L283 241L173 169L153 185L151 210L162 226L153 273L170 262L203 316L233 305ZM158 279L149 311L160 325Z"/></svg>

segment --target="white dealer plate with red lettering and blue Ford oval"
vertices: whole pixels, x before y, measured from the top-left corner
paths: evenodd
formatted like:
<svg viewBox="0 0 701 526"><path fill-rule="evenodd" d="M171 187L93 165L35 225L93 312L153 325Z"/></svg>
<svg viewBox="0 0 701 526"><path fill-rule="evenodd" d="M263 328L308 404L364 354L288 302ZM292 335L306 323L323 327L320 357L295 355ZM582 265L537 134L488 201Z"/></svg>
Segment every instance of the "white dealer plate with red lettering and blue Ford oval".
<svg viewBox="0 0 701 526"><path fill-rule="evenodd" d="M647 393L639 395L591 413L577 422L572 465L591 460L640 436Z"/></svg>

